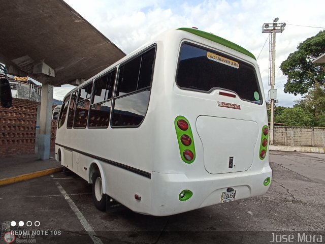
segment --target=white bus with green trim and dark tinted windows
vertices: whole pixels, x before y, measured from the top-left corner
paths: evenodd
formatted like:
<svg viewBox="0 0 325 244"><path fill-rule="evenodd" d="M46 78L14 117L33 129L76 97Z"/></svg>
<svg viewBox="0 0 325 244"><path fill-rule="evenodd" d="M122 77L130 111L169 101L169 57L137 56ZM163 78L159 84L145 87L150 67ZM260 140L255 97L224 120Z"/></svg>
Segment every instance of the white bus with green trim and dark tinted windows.
<svg viewBox="0 0 325 244"><path fill-rule="evenodd" d="M267 192L261 75L246 49L194 28L167 31L63 100L56 159L115 199L168 216Z"/></svg>

